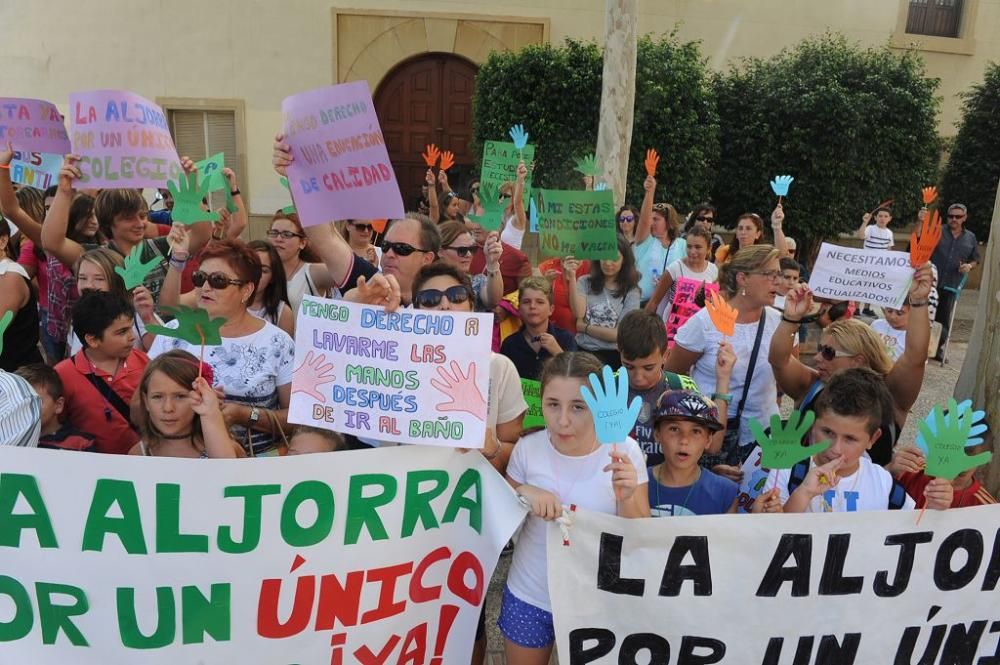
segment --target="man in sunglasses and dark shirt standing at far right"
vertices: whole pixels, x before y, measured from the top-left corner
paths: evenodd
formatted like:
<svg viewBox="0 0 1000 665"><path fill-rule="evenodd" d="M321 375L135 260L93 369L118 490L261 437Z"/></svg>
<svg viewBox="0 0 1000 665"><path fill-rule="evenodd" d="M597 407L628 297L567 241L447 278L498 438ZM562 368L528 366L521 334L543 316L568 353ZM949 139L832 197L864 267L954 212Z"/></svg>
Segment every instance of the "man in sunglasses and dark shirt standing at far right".
<svg viewBox="0 0 1000 665"><path fill-rule="evenodd" d="M941 361L944 347L948 343L951 323L951 309L955 306L958 285L962 277L979 263L979 241L976 235L965 228L968 210L961 203L948 206L948 232L941 234L941 240L934 248L931 263L938 270L938 309L935 320L941 324L941 338L934 360Z"/></svg>

